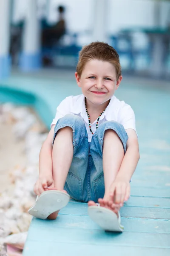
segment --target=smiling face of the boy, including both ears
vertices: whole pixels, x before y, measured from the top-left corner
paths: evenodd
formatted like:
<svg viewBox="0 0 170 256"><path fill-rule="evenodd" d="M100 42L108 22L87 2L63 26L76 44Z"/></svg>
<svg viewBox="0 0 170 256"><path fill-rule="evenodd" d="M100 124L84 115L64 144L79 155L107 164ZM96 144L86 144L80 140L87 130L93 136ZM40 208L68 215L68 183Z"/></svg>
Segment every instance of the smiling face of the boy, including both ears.
<svg viewBox="0 0 170 256"><path fill-rule="evenodd" d="M101 105L111 99L122 80L122 76L116 80L116 69L113 64L99 60L88 61L81 77L77 72L75 76L84 96L95 105Z"/></svg>

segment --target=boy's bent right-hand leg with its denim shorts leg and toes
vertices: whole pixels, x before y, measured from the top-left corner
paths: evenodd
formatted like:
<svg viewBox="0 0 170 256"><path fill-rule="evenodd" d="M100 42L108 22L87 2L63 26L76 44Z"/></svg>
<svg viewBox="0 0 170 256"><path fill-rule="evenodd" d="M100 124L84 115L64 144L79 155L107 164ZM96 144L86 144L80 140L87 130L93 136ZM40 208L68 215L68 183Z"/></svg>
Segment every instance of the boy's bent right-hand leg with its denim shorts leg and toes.
<svg viewBox="0 0 170 256"><path fill-rule="evenodd" d="M96 200L103 198L99 203L107 208L111 208L109 189L119 172L127 139L124 127L113 121L102 123L92 138L91 154L97 175L92 176L91 181ZM89 205L94 205L94 202L90 202ZM113 211L117 211L115 205Z"/></svg>

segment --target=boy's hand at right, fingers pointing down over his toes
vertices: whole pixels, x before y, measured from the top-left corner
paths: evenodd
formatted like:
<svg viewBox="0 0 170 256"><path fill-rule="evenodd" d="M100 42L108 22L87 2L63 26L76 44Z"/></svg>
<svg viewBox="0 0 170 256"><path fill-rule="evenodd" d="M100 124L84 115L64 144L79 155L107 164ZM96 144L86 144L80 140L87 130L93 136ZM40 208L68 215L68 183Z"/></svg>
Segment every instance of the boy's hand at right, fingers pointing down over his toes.
<svg viewBox="0 0 170 256"><path fill-rule="evenodd" d="M123 206L124 201L130 197L130 183L124 178L116 178L110 187L111 201L115 204Z"/></svg>

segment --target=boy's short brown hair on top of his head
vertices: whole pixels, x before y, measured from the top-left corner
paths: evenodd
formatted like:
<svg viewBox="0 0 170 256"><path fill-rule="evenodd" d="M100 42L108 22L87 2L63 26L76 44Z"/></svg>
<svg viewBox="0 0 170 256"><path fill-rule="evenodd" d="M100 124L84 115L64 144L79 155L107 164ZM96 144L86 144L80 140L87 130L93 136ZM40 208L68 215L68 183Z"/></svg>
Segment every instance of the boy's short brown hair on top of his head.
<svg viewBox="0 0 170 256"><path fill-rule="evenodd" d="M91 60L107 61L113 64L116 69L117 80L122 74L119 55L116 50L107 43L93 42L82 47L82 50L79 52L79 61L76 68L79 77L82 75L85 64Z"/></svg>

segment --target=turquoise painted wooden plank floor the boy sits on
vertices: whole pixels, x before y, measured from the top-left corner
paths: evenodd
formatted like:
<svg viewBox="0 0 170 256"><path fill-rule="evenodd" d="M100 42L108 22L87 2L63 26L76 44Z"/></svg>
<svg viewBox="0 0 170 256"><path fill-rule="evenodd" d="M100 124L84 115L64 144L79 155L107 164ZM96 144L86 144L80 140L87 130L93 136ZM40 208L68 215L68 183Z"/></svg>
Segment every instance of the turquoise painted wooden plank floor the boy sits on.
<svg viewBox="0 0 170 256"><path fill-rule="evenodd" d="M125 80L125 79L124 79ZM55 221L33 218L24 256L169 256L170 255L170 85L123 81L116 92L136 114L141 159L132 177L131 198L121 209L121 234L101 230L87 214L87 204L70 201ZM59 102L80 93L66 76L18 76L0 85L0 101L22 103L4 90L34 95L30 103L50 125ZM46 108L46 111L45 111Z"/></svg>

